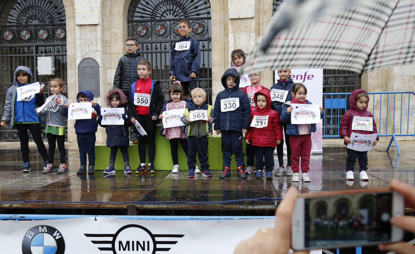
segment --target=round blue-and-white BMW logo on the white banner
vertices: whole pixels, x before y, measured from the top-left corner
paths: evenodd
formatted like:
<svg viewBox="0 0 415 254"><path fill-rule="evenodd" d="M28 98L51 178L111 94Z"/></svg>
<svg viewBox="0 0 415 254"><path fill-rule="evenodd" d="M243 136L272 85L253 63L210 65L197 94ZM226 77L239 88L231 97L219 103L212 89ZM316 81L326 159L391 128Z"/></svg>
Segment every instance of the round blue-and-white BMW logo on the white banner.
<svg viewBox="0 0 415 254"><path fill-rule="evenodd" d="M22 242L23 254L64 254L65 240L56 228L40 225L29 229Z"/></svg>

